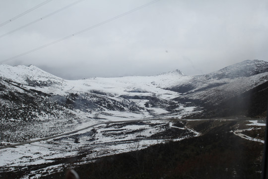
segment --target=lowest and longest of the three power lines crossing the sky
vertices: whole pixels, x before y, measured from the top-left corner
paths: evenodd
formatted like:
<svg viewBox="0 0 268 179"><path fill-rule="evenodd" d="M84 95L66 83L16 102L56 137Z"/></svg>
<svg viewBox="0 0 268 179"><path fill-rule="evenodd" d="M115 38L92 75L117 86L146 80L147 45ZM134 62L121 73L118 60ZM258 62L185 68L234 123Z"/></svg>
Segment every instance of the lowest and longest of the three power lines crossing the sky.
<svg viewBox="0 0 268 179"><path fill-rule="evenodd" d="M42 45L42 46L37 47L37 48L35 48L35 49L32 49L32 50L30 50L30 51L27 51L27 52L21 53L21 54L19 54L19 55L10 57L10 58L8 58L8 59L5 59L5 60L3 60L3 61L0 61L0 63L7 62L7 61L9 61L9 60L13 60L13 59L15 59L15 58L18 58L18 57L27 55L27 54L29 54L29 53L32 53L32 52L35 52L35 51L37 51L37 50L43 49L43 48L48 47L48 46L50 46L50 45L53 45L53 44L55 44L55 43L61 42L61 41L66 40L66 39L68 39L68 38L70 38L70 37L73 37L74 35L81 34L81 33L83 33L83 32L86 32L86 31L91 30L91 29L93 29L93 28L96 28L96 27L98 27L98 26L101 26L101 25L103 25L103 24L106 24L106 23L108 23L108 22L111 22L111 21L113 21L113 20L115 20L115 19L118 19L118 18L120 18L120 17L123 17L123 16L125 16L125 15L127 15L127 14L130 14L130 13L132 13L132 12L134 12L134 11L137 11L137 10L139 10L139 9L141 9L141 8L144 8L144 7L148 6L148 5L151 5L151 4L153 4L153 3L157 2L157 1L159 1L159 0L153 0L153 1L150 1L150 2L148 2L148 3L145 3L145 4L141 5L141 6L138 6L138 7L134 8L134 9L132 9L132 10L129 10L129 11L127 11L127 12L124 12L124 13L122 13L122 14L120 14L120 15L115 16L115 17L112 17L112 18L110 18L110 19L108 19L108 20L102 21L102 22L100 22L100 23L98 23L98 24L95 24L95 25L93 25L93 26L90 26L90 27L88 27L88 28L85 28L85 29L83 29L83 30L80 30L80 31L78 31L78 32L75 32L75 33L73 33L73 34L71 34L71 35L68 35L68 36L66 36L66 37L63 37L63 38L61 38L61 39L59 39L59 40L50 42L50 43L48 43L48 44Z"/></svg>

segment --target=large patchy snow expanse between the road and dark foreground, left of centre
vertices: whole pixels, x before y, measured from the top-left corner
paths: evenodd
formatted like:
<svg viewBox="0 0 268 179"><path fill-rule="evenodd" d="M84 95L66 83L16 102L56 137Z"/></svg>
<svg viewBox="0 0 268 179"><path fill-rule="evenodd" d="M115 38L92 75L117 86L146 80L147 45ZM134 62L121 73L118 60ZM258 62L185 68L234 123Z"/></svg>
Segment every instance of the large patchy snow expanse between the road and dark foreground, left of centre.
<svg viewBox="0 0 268 179"><path fill-rule="evenodd" d="M182 132L176 138L154 138L154 134L173 128ZM185 131L185 132L183 132ZM2 172L17 170L31 165L50 164L47 169L32 171L32 174L61 170L58 164L53 164L59 158L79 156L80 152L87 153L80 163L86 163L97 157L119 154L146 148L153 144L166 141L179 141L200 134L193 129L176 127L169 120L146 120L140 122L118 122L100 124L68 136L46 141L34 142L0 150L0 168ZM54 166L55 165L55 166ZM25 176L27 177L27 176Z"/></svg>

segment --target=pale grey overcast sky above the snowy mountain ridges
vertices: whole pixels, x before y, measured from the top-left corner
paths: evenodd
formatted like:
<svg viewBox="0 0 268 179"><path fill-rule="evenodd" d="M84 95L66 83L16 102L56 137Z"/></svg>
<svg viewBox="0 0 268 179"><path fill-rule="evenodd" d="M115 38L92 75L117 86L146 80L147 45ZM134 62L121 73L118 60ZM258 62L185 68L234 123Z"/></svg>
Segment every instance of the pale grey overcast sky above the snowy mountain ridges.
<svg viewBox="0 0 268 179"><path fill-rule="evenodd" d="M0 23L45 0L0 0ZM77 0L52 0L0 27L0 35ZM0 61L132 10L151 0L83 0L0 38ZM213 72L268 61L267 0L159 0L41 50L4 62L33 64L64 79Z"/></svg>

